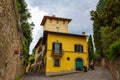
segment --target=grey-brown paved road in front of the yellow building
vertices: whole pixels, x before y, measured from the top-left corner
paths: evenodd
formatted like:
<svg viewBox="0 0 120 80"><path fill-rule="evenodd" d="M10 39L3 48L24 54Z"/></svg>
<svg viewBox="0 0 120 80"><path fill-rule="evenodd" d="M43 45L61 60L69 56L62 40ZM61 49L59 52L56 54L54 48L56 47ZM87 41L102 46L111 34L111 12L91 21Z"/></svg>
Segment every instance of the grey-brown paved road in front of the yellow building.
<svg viewBox="0 0 120 80"><path fill-rule="evenodd" d="M103 67L95 67L95 70L74 74L45 77L36 73L29 73L25 80L114 80L111 73Z"/></svg>

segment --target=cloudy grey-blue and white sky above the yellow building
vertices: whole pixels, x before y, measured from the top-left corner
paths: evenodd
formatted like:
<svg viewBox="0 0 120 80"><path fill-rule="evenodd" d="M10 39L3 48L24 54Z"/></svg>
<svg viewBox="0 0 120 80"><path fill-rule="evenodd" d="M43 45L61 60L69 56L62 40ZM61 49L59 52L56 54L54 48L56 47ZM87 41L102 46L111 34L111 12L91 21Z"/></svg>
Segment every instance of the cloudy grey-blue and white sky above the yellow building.
<svg viewBox="0 0 120 80"><path fill-rule="evenodd" d="M86 32L92 34L92 21L90 11L96 9L98 0L25 0L32 18L29 22L34 22L32 31L33 41L30 45L30 54L43 34L43 26L40 23L44 17L53 16L70 18L69 33L81 34Z"/></svg>

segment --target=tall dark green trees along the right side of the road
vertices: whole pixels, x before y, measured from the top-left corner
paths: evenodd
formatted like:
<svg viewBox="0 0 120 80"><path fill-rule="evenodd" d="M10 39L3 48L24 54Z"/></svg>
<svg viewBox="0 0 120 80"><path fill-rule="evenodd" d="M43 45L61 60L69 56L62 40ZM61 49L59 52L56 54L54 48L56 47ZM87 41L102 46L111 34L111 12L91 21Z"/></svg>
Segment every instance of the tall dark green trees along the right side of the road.
<svg viewBox="0 0 120 80"><path fill-rule="evenodd" d="M99 0L91 11L94 42L101 57L109 55L109 46L120 40L120 0Z"/></svg>

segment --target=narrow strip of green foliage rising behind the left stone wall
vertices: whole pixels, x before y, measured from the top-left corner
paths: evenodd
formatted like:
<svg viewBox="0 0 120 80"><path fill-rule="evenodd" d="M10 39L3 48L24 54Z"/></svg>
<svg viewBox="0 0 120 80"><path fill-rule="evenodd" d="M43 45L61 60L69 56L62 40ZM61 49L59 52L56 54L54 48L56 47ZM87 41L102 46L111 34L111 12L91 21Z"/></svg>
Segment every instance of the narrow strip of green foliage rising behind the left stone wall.
<svg viewBox="0 0 120 80"><path fill-rule="evenodd" d="M24 65L28 65L29 60L29 46L32 42L31 31L32 28L28 22L28 19L31 17L25 0L17 0L17 8L20 14L20 23L23 30L24 36L24 45L23 45L23 54L24 54Z"/></svg>

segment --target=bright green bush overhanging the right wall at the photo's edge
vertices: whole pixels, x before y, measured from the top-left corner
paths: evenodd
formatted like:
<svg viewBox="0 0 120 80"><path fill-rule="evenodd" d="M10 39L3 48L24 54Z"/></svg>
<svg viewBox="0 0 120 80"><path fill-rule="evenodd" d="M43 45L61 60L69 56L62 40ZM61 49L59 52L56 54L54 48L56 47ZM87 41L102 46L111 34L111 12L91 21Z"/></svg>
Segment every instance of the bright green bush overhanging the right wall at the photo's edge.
<svg viewBox="0 0 120 80"><path fill-rule="evenodd" d="M109 60L115 60L115 58L120 57L120 41L113 43L109 47L109 54L107 55L107 58Z"/></svg>

